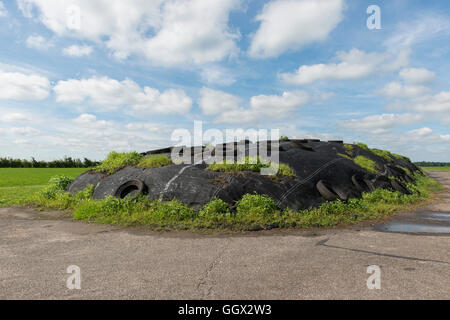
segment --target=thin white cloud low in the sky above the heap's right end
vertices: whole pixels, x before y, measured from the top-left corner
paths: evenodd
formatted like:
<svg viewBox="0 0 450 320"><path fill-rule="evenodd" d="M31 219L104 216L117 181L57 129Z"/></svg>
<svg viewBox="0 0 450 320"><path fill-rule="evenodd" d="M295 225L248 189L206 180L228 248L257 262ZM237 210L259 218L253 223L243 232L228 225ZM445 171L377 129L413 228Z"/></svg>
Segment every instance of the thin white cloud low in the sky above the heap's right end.
<svg viewBox="0 0 450 320"><path fill-rule="evenodd" d="M392 128L419 122L422 119L417 114L379 114L362 119L351 119L340 123L340 127L348 131L382 134L391 131Z"/></svg>

